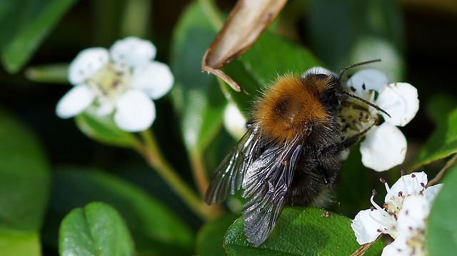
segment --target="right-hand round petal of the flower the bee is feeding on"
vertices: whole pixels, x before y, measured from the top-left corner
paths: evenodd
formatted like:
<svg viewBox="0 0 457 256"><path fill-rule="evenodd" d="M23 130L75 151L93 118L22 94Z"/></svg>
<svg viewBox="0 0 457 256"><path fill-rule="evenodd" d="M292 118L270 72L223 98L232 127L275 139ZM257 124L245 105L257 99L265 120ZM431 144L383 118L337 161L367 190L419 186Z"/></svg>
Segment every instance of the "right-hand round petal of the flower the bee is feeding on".
<svg viewBox="0 0 457 256"><path fill-rule="evenodd" d="M379 93L375 104L389 113L384 120L393 126L405 126L419 109L417 89L409 83L391 83Z"/></svg>

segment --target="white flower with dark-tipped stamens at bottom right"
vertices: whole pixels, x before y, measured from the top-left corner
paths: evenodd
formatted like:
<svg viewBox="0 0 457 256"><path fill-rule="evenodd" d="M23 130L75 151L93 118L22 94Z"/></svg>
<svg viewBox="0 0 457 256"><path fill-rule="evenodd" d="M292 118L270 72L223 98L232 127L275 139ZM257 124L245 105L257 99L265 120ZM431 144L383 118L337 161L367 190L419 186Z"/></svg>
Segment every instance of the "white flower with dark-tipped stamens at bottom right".
<svg viewBox="0 0 457 256"><path fill-rule="evenodd" d="M411 173L402 175L391 188L386 186L387 195L383 207L374 202L373 207L361 210L351 227L360 245L373 242L381 234L390 235L395 241L383 250L383 255L423 255L426 220L431 205L442 184L426 188L427 175Z"/></svg>

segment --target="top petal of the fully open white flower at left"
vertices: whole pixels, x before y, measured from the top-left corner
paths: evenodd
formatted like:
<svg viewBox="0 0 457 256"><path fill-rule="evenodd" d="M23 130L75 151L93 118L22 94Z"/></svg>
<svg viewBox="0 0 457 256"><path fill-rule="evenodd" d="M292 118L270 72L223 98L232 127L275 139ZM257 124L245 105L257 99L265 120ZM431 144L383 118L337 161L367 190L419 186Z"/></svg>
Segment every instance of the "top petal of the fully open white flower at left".
<svg viewBox="0 0 457 256"><path fill-rule="evenodd" d="M139 67L156 57L156 46L150 41L129 36L116 41L109 49L115 63Z"/></svg>

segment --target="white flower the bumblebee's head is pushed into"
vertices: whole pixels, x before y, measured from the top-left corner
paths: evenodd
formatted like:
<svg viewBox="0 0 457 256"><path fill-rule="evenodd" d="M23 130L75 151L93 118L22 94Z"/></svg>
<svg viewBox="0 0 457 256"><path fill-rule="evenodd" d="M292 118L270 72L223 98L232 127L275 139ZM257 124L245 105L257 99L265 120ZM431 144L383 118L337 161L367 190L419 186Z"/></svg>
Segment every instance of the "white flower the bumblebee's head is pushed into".
<svg viewBox="0 0 457 256"><path fill-rule="evenodd" d="M388 83L384 73L371 68L354 73L348 79L348 86L356 96L374 103L389 115L376 111L371 106L368 106L367 111L359 111L376 118L375 123L378 113L384 120L380 126L371 128L374 123L359 121L358 127L353 129L362 132L369 128L360 148L363 165L376 171L383 171L403 163L407 142L396 126L405 126L416 116L419 108L417 89L409 83Z"/></svg>

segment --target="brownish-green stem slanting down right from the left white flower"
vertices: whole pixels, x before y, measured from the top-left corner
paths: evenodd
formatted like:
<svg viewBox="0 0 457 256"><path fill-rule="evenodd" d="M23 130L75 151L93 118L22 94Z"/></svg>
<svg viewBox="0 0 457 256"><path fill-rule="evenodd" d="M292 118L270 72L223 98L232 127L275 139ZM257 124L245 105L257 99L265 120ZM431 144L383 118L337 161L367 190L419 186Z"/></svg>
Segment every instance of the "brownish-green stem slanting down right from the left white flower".
<svg viewBox="0 0 457 256"><path fill-rule="evenodd" d="M144 155L147 163L159 173L176 195L184 200L189 208L203 220L209 220L215 215L219 215L213 207L206 205L194 190L189 188L189 185L181 179L176 170L166 161L151 130L144 130L140 135L144 140L144 144L141 144L137 150Z"/></svg>

